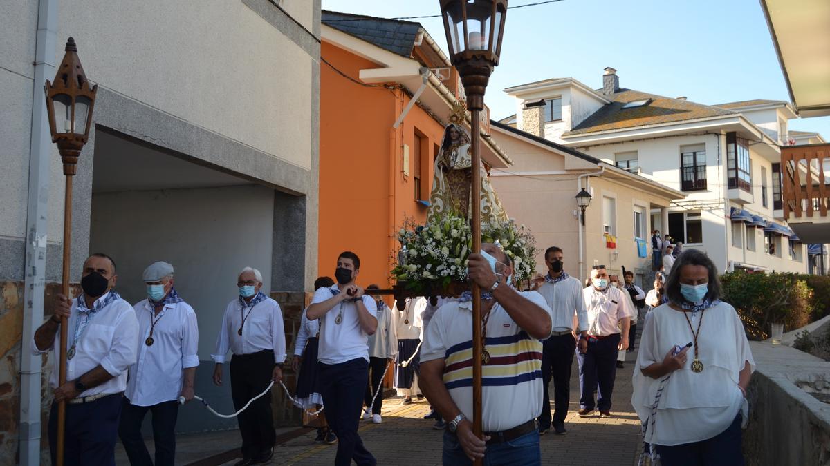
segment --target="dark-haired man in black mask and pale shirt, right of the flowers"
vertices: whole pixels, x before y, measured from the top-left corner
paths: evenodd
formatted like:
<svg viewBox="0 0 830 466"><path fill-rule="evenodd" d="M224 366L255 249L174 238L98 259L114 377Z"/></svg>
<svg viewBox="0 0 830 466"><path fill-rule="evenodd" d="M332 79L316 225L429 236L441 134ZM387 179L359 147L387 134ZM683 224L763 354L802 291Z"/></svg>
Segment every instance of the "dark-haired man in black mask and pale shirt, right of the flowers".
<svg viewBox="0 0 830 466"><path fill-rule="evenodd" d="M542 342L542 414L539 416L540 434L547 432L553 425L558 435L566 434L565 417L568 416L570 402L570 375L574 366L574 350L579 333L579 352L588 347L588 313L582 294L582 283L574 279L563 269L563 252L556 246L544 251L544 263L548 265L548 274L544 277L537 291L544 297L553 313L553 328L550 337ZM554 379L554 416L550 417L550 398L548 386Z"/></svg>

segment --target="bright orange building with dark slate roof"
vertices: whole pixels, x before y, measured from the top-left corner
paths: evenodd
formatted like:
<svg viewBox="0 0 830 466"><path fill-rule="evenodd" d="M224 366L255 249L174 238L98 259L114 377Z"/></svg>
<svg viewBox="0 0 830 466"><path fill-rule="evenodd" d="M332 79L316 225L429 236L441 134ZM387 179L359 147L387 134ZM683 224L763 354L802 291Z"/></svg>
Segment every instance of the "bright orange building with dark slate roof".
<svg viewBox="0 0 830 466"><path fill-rule="evenodd" d="M337 256L351 250L358 284L383 289L392 284L396 232L408 217L426 221L433 163L461 86L417 23L359 17L376 22L363 29L349 18L323 12L318 273L334 277ZM383 30L398 46L375 36ZM486 162L505 166L499 149L481 147Z"/></svg>

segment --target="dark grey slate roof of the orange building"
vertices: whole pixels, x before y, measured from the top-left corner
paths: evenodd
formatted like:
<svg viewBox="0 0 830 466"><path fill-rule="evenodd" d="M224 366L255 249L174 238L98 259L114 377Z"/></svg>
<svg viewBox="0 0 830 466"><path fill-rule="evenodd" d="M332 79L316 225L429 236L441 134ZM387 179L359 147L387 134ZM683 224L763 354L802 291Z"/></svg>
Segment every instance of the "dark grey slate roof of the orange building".
<svg viewBox="0 0 830 466"><path fill-rule="evenodd" d="M417 22L325 10L322 12L321 22L407 58L412 56L417 32L421 29L421 24Z"/></svg>

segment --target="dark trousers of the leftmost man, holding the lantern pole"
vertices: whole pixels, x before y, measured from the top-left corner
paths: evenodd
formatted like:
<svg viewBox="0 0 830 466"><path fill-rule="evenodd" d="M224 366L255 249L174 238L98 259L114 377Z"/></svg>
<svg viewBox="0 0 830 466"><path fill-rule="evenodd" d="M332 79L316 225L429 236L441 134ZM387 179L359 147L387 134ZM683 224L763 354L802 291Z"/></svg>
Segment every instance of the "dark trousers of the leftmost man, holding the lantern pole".
<svg viewBox="0 0 830 466"><path fill-rule="evenodd" d="M121 415L121 394L81 405L66 404L64 466L115 466L115 441ZM57 403L49 410L49 452L57 464Z"/></svg>

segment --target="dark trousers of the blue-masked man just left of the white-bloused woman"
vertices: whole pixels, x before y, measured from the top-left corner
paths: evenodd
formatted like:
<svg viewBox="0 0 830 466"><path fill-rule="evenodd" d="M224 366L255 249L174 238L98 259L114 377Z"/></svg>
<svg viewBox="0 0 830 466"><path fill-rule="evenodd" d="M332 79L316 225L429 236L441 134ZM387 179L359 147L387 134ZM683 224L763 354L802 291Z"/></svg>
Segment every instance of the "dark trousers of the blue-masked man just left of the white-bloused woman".
<svg viewBox="0 0 830 466"><path fill-rule="evenodd" d="M620 334L615 333L601 339L588 338L588 351L577 354L579 361L579 407L593 410L593 389L598 387L596 408L611 410L611 393L614 377L617 376L617 357Z"/></svg>

